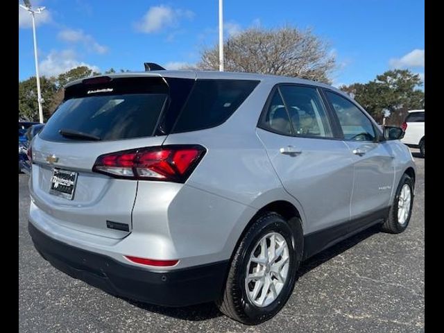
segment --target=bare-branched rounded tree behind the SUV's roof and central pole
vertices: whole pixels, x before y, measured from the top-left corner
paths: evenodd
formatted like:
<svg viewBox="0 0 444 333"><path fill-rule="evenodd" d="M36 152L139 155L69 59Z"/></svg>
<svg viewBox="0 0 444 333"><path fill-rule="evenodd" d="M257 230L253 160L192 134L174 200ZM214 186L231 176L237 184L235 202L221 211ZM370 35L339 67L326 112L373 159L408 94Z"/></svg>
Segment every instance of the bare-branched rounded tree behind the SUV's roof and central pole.
<svg viewBox="0 0 444 333"><path fill-rule="evenodd" d="M335 59L328 44L310 30L291 26L249 28L228 37L225 70L296 76L328 83ZM219 69L219 45L203 49L198 69Z"/></svg>

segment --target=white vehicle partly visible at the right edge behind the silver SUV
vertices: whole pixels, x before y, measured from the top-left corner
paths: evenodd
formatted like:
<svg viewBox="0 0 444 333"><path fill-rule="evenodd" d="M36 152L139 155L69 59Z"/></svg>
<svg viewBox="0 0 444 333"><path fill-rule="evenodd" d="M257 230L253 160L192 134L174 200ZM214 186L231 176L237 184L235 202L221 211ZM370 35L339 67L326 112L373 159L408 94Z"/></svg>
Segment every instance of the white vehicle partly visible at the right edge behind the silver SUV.
<svg viewBox="0 0 444 333"><path fill-rule="evenodd" d="M421 157L425 157L425 135L424 135L425 110L411 110L402 123L405 132L402 143L412 148L419 148Z"/></svg>

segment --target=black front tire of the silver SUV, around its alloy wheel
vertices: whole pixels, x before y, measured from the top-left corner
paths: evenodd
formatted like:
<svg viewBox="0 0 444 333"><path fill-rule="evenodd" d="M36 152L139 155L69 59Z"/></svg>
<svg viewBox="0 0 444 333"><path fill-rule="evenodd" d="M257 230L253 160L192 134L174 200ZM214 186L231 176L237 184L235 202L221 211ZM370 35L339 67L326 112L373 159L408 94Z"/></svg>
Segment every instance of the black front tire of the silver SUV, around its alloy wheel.
<svg viewBox="0 0 444 333"><path fill-rule="evenodd" d="M410 200L410 210L409 215L404 223L398 222L398 202L400 199L400 193L402 187L404 185L409 185L411 191L411 200ZM399 234L407 229L411 218L411 209L413 207L413 188L415 185L413 184L413 180L406 174L402 175L400 183L398 185L398 189L396 189L395 199L393 200L393 205L391 205L390 211L388 212L388 216L386 221L382 224L381 230L384 232L388 232L390 234Z"/></svg>

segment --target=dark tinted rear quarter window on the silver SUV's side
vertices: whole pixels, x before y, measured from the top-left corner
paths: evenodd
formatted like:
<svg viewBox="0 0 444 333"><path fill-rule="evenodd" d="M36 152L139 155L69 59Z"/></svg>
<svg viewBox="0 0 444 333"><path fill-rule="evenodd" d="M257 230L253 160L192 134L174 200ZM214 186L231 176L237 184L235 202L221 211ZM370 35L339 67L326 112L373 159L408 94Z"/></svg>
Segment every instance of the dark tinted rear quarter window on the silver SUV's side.
<svg viewBox="0 0 444 333"><path fill-rule="evenodd" d="M259 81L197 80L172 133L219 126L253 92Z"/></svg>

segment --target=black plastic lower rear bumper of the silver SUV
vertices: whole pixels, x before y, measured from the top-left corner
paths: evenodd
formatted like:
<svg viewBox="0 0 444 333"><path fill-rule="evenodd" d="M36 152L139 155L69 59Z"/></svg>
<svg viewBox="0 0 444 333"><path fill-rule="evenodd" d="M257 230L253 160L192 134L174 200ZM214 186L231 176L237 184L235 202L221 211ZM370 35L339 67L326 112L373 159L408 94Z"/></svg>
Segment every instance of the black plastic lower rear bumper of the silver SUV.
<svg viewBox="0 0 444 333"><path fill-rule="evenodd" d="M32 223L37 251L60 271L116 296L155 305L180 307L216 300L228 261L170 271L148 271L53 239Z"/></svg>

